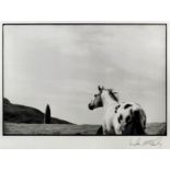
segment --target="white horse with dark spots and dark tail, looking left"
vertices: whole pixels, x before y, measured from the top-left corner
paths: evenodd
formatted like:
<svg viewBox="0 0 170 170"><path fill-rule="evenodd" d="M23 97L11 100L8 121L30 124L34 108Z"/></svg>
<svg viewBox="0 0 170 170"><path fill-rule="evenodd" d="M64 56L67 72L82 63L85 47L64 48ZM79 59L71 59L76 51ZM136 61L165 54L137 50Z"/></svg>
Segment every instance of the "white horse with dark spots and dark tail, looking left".
<svg viewBox="0 0 170 170"><path fill-rule="evenodd" d="M103 123L99 133L103 135L145 135L146 114L139 104L120 102L118 93L98 87L99 93L89 103L89 109L104 107Z"/></svg>

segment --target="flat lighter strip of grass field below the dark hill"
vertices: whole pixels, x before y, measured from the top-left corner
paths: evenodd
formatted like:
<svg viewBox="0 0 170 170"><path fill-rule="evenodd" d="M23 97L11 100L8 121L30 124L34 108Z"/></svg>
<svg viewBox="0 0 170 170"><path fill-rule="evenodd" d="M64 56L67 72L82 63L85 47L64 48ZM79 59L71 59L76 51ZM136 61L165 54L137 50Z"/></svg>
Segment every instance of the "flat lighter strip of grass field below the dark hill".
<svg viewBox="0 0 170 170"><path fill-rule="evenodd" d="M4 135L84 135L93 136L100 125L4 123ZM166 123L147 124L148 135L166 135Z"/></svg>

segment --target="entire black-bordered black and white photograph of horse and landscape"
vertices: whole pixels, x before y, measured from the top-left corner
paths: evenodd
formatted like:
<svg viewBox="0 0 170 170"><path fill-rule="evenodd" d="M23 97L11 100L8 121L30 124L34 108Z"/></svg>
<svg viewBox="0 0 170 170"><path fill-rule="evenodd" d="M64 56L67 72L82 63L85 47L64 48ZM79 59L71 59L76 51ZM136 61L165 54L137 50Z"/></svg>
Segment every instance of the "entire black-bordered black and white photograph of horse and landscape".
<svg viewBox="0 0 170 170"><path fill-rule="evenodd" d="M3 23L3 135L167 136L167 24Z"/></svg>

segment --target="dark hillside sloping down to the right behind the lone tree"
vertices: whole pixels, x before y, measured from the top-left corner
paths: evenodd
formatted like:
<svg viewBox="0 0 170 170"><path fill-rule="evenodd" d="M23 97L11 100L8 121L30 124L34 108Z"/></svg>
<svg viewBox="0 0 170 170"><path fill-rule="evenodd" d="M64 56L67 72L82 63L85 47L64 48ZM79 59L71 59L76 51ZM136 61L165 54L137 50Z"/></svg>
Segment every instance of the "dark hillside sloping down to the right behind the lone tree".
<svg viewBox="0 0 170 170"><path fill-rule="evenodd" d="M44 113L37 109L11 103L3 99L3 121L9 123L44 123ZM52 117L52 124L71 124L70 122Z"/></svg>

